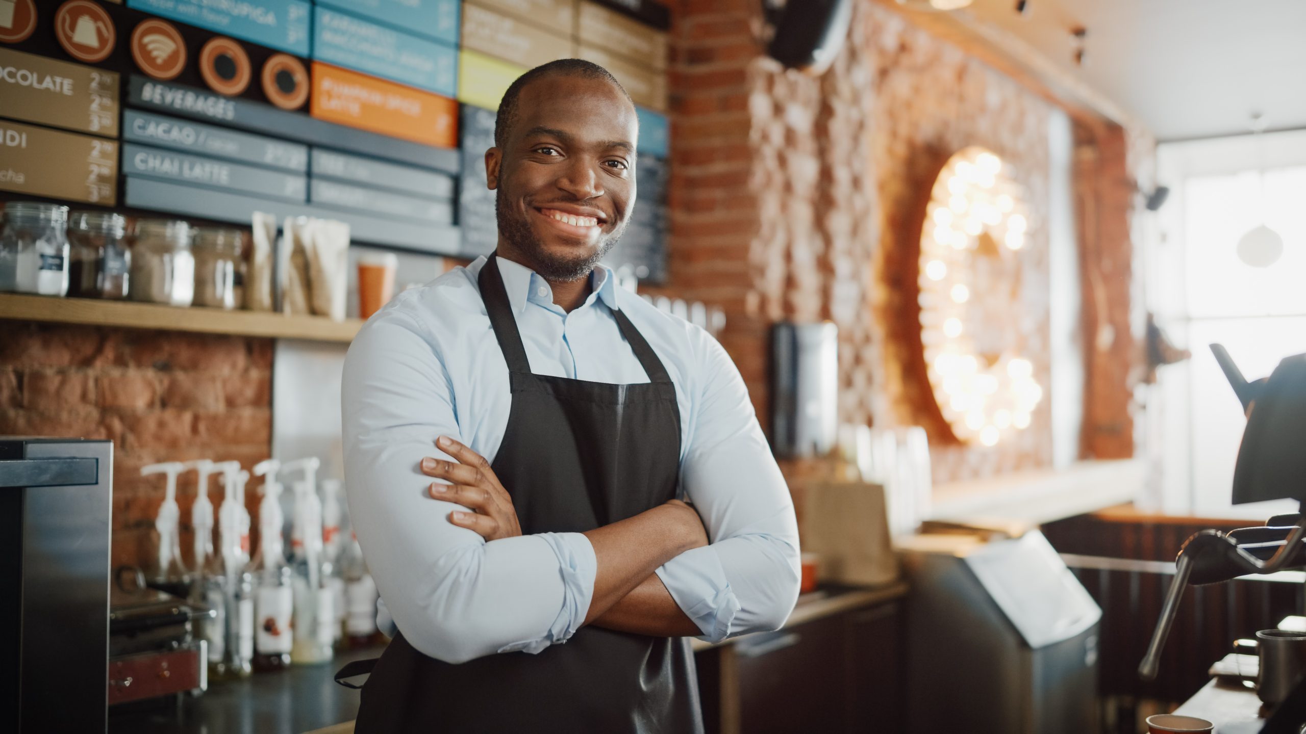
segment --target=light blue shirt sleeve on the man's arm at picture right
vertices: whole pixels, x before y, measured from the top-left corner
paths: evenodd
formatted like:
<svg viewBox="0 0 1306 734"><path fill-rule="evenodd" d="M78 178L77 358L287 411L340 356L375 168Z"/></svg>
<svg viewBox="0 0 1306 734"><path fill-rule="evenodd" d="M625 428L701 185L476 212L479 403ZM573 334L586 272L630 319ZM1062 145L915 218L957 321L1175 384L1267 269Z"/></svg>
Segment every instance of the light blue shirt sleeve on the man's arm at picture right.
<svg viewBox="0 0 1306 734"><path fill-rule="evenodd" d="M734 362L701 330L690 444L680 486L710 545L658 568L701 639L777 630L798 601L798 522L789 487L757 424Z"/></svg>

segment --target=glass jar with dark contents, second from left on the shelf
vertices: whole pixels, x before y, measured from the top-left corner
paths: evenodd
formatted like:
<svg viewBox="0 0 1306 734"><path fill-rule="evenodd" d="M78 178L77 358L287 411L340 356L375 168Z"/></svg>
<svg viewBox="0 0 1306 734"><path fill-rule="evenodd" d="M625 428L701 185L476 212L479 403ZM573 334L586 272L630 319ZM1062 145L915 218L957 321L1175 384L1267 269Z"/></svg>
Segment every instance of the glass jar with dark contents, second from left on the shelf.
<svg viewBox="0 0 1306 734"><path fill-rule="evenodd" d="M111 212L73 212L68 218L68 295L127 298L132 251L127 219Z"/></svg>

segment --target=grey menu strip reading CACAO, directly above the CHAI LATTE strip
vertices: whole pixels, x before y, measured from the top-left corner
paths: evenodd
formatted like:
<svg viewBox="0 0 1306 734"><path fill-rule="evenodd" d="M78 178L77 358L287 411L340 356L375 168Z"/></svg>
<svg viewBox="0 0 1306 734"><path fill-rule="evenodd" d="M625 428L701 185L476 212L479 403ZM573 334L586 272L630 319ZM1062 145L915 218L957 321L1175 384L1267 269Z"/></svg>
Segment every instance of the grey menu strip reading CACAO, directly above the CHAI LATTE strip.
<svg viewBox="0 0 1306 734"><path fill-rule="evenodd" d="M269 168L300 174L308 170L307 145L166 115L128 110L123 115L123 138Z"/></svg>

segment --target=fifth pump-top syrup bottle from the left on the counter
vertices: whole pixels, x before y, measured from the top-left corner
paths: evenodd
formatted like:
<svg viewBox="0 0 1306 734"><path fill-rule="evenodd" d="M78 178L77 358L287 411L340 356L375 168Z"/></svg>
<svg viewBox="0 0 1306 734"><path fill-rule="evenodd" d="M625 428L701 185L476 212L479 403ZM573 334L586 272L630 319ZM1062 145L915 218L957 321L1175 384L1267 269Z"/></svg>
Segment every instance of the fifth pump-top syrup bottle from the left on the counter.
<svg viewBox="0 0 1306 734"><path fill-rule="evenodd" d="M295 492L291 519L295 635L290 661L296 665L329 661L336 639L334 597L326 589L323 573L323 508L317 499L317 458L308 457L286 462L281 468L282 471L299 469L304 477L291 485Z"/></svg>

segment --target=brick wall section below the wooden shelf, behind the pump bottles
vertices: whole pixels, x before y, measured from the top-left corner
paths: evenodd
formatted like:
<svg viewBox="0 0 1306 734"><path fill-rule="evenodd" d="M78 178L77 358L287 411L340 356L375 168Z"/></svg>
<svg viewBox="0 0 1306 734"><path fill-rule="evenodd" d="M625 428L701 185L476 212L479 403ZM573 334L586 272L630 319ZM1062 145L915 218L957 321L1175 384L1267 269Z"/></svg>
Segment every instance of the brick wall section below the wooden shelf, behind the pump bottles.
<svg viewBox="0 0 1306 734"><path fill-rule="evenodd" d="M272 444L272 340L0 321L0 435L114 441L112 562L150 558L163 478L157 461L239 460ZM191 547L195 473L178 483ZM210 499L222 502L213 479ZM247 492L251 511L257 495ZM255 539L255 542L257 542Z"/></svg>

